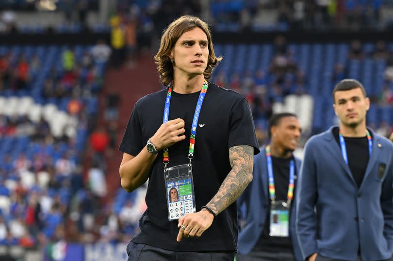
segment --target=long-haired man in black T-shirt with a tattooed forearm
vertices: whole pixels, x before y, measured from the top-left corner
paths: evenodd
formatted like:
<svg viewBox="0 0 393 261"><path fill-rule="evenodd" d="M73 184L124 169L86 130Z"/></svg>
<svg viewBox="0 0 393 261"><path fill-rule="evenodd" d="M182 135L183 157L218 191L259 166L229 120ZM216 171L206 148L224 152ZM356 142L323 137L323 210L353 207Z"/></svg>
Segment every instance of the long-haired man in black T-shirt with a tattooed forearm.
<svg viewBox="0 0 393 261"><path fill-rule="evenodd" d="M154 58L167 88L135 104L120 145L123 188L132 191L149 180L147 211L127 247L129 260L233 261L234 202L251 181L259 153L249 105L206 81L222 58L197 17L172 22ZM193 178L168 180L189 173ZM168 197L172 187L179 192L175 203ZM194 213L179 215L183 206Z"/></svg>

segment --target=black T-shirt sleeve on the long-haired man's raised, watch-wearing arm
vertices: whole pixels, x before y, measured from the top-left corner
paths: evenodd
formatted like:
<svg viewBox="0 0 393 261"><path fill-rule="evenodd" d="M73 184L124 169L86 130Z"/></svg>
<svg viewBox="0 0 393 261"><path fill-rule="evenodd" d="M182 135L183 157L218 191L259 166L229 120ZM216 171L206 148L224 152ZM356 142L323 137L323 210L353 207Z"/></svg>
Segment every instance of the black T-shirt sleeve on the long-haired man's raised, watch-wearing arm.
<svg viewBox="0 0 393 261"><path fill-rule="evenodd" d="M138 116L138 103L135 104L127 123L119 151L136 156L143 149L142 128Z"/></svg>

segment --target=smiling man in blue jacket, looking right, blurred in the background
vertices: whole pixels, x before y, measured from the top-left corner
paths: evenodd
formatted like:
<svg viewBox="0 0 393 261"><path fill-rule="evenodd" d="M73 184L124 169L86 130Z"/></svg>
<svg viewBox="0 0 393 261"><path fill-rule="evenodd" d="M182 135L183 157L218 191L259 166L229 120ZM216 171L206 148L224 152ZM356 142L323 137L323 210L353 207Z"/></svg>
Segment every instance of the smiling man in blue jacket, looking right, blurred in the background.
<svg viewBox="0 0 393 261"><path fill-rule="evenodd" d="M295 114L274 114L268 126L271 142L261 148L261 153L254 156L253 180L238 199L238 214L245 223L240 227L238 237L238 261L301 261L301 252L295 236L295 202L292 199L290 177L293 173L293 185L296 189L296 176L300 169L300 160L293 156L301 128ZM270 158L270 163L268 158ZM291 165L292 163L293 165ZM275 191L269 193L269 164ZM292 170L291 170L291 166ZM293 188L293 186L292 186ZM272 194L273 193L273 194ZM288 218L280 224L278 215L271 219L272 196L275 202L287 203ZM245 216L241 210L246 207ZM274 207L273 207L274 209ZM273 210L274 211L274 210ZM271 222L273 221L273 227ZM275 221L277 222L275 224ZM289 221L289 222L288 222ZM275 227L276 226L276 227ZM285 227L284 234L272 234L270 229ZM288 233L285 235L285 232Z"/></svg>

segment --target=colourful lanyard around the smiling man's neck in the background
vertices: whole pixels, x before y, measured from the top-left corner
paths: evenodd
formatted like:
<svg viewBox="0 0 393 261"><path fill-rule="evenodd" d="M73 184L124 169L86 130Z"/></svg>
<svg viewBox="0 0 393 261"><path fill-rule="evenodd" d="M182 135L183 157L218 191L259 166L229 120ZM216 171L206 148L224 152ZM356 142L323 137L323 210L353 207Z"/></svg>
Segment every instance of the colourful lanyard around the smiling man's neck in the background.
<svg viewBox="0 0 393 261"><path fill-rule="evenodd" d="M270 199L272 201L275 201L276 188L274 185L272 154L270 153L270 146L266 146L265 150L266 150L266 159L267 159L267 173L269 175L269 194L270 194ZM288 186L288 194L287 194L288 205L291 203L291 200L294 198L294 187L295 187L295 162L294 160L291 160L289 164L289 186Z"/></svg>

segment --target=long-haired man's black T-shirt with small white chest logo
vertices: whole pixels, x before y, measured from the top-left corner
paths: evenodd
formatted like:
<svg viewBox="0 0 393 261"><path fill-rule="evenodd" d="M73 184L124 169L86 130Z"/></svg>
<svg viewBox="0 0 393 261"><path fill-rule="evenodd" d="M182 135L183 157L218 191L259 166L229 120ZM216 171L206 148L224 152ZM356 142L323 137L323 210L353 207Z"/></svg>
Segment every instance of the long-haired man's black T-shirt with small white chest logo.
<svg viewBox="0 0 393 261"><path fill-rule="evenodd" d="M147 139L163 123L166 93L164 89L149 94L135 104L120 151L137 155L146 146ZM188 163L191 125L198 97L199 92L172 92L169 120L184 120L186 138L169 147L169 167ZM197 211L213 198L231 170L229 148L236 145L253 146L254 154L259 153L250 107L240 94L210 83L200 110L192 161ZM133 237L133 242L174 251L236 250L236 202L217 215L200 238L183 239L178 243L178 221L168 221L166 197L163 152L160 152L149 177L147 211L139 221L141 231Z"/></svg>

